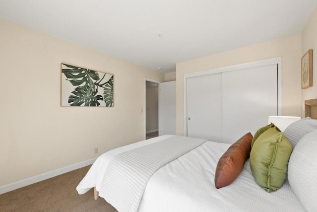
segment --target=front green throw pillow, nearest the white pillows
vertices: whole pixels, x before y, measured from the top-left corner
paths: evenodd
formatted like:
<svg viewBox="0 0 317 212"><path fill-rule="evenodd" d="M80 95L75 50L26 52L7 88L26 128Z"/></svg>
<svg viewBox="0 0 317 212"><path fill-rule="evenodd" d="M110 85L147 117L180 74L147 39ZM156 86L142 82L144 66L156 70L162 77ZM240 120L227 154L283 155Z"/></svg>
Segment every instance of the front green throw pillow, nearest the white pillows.
<svg viewBox="0 0 317 212"><path fill-rule="evenodd" d="M261 188L272 192L282 187L291 153L291 143L277 127L259 136L250 152L250 168Z"/></svg>

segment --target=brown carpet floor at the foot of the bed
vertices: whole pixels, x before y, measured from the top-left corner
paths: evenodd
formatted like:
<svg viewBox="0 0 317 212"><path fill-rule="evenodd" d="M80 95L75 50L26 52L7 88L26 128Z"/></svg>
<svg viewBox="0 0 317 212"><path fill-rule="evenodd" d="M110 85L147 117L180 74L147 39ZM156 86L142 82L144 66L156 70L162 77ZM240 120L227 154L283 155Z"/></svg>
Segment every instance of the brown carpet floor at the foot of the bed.
<svg viewBox="0 0 317 212"><path fill-rule="evenodd" d="M76 186L90 166L0 195L0 212L117 212L94 190L79 195Z"/></svg>

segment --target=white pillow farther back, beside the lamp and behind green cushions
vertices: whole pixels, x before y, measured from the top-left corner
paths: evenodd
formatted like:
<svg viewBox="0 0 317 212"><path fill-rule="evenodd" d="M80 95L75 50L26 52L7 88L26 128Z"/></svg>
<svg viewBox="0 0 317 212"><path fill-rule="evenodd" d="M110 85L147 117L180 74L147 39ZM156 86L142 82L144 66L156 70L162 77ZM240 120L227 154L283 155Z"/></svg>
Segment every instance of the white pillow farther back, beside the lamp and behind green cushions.
<svg viewBox="0 0 317 212"><path fill-rule="evenodd" d="M296 143L308 133L317 129L317 120L307 117L290 124L284 131L284 136L291 142L293 148Z"/></svg>

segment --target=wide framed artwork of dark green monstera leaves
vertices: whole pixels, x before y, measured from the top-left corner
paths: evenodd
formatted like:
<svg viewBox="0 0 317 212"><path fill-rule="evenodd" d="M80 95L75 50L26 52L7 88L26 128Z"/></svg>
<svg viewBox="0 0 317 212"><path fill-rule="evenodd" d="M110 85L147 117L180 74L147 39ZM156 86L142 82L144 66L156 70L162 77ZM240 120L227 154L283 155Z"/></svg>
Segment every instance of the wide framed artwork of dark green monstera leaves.
<svg viewBox="0 0 317 212"><path fill-rule="evenodd" d="M60 106L113 107L113 74L60 64Z"/></svg>

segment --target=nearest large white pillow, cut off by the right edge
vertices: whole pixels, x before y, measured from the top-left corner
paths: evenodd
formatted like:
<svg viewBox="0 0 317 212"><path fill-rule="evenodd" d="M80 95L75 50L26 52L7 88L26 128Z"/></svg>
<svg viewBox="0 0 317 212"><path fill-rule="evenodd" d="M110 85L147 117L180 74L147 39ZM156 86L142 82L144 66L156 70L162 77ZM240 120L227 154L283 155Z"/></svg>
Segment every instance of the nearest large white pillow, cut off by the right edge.
<svg viewBox="0 0 317 212"><path fill-rule="evenodd" d="M317 130L296 144L288 162L288 181L308 212L317 212Z"/></svg>

